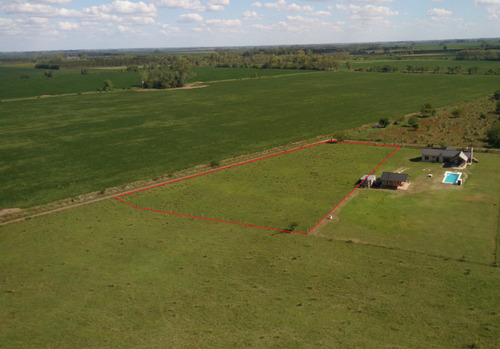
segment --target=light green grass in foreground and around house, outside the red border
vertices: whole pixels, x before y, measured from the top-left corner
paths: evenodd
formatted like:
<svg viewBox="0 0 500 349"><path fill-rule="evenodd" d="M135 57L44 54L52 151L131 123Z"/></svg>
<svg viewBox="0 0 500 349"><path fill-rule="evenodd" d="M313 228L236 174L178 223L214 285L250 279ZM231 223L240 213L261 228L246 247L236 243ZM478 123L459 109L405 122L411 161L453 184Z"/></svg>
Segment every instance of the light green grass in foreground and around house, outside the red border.
<svg viewBox="0 0 500 349"><path fill-rule="evenodd" d="M496 347L498 156L478 154L464 187L429 191L418 150L396 154L378 173L411 168L415 192L359 190L307 237L115 200L0 227L0 342Z"/></svg>

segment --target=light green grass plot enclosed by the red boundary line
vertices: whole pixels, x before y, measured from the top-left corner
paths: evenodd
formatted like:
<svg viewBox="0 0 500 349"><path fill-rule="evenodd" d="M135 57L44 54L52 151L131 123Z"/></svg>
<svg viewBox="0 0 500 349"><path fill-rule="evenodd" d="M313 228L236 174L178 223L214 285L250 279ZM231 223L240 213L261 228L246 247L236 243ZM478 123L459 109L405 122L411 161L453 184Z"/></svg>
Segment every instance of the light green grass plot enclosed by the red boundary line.
<svg viewBox="0 0 500 349"><path fill-rule="evenodd" d="M141 208L307 233L394 150L322 143L121 199Z"/></svg>

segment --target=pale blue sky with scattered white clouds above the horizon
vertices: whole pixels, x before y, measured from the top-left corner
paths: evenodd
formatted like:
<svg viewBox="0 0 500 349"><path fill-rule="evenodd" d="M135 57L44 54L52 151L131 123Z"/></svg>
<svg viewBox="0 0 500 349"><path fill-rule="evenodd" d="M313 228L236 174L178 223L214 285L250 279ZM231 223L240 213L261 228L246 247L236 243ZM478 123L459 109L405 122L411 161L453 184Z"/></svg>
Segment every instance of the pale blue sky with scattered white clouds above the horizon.
<svg viewBox="0 0 500 349"><path fill-rule="evenodd" d="M500 0L0 0L0 52L500 37Z"/></svg>

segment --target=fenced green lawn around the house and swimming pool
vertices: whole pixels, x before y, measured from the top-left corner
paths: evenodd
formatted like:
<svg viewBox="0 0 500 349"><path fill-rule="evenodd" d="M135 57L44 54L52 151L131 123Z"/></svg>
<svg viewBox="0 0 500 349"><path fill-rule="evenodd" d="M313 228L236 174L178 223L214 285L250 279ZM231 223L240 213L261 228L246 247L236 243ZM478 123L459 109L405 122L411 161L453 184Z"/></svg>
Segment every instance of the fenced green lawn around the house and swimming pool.
<svg viewBox="0 0 500 349"><path fill-rule="evenodd" d="M498 233L500 184L492 181L500 156L476 154L463 170L465 185L443 184L440 164L412 162L418 150L401 148L378 171L404 168L407 191L359 190L320 234L434 256L492 265ZM427 177L432 173L433 177Z"/></svg>

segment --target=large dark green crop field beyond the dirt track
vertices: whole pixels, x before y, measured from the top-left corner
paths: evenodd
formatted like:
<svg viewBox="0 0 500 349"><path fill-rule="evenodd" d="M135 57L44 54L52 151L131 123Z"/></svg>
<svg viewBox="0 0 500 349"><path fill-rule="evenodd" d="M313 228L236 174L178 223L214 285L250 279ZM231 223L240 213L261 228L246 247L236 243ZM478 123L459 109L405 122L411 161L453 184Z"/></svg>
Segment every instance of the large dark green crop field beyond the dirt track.
<svg viewBox="0 0 500 349"><path fill-rule="evenodd" d="M491 94L496 76L310 73L2 101L0 208L30 207Z"/></svg>

